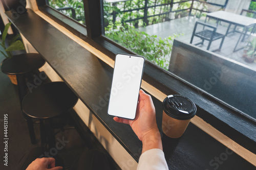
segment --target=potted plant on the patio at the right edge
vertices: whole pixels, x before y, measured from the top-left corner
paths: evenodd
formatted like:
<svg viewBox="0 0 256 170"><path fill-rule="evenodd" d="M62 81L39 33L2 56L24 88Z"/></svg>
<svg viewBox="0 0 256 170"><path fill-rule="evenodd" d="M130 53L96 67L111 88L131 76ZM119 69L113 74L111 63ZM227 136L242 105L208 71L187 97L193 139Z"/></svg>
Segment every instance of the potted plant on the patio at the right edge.
<svg viewBox="0 0 256 170"><path fill-rule="evenodd" d="M244 60L248 63L256 61L256 37L251 38L251 40L244 47Z"/></svg>

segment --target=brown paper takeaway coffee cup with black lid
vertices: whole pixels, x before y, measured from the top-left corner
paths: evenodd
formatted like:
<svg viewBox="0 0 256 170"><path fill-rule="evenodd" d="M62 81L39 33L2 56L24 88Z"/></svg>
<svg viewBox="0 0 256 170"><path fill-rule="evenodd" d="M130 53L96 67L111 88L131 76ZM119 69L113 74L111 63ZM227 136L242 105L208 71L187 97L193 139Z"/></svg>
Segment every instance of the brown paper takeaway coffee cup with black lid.
<svg viewBox="0 0 256 170"><path fill-rule="evenodd" d="M183 95L168 95L163 104L162 131L171 138L179 138L185 132L197 107L193 101Z"/></svg>

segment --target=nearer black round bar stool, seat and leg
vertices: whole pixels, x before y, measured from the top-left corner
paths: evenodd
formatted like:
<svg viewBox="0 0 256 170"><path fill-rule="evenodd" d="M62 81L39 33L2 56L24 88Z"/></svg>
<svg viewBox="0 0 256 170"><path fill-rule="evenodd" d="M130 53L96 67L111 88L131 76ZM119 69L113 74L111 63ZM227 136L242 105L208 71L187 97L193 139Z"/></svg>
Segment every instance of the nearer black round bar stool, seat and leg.
<svg viewBox="0 0 256 170"><path fill-rule="evenodd" d="M22 102L23 112L40 121L41 145L55 147L54 118L61 117L77 103L77 96L64 82L42 84L28 93Z"/></svg>

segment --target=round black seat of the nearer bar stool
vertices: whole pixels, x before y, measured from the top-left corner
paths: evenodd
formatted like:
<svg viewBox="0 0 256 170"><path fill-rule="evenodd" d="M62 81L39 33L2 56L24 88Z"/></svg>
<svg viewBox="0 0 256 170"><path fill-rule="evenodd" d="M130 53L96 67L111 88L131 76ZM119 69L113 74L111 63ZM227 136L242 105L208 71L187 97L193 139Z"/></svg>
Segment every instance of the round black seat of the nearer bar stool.
<svg viewBox="0 0 256 170"><path fill-rule="evenodd" d="M28 93L23 99L22 108L30 117L46 119L66 113L77 100L77 96L64 82L51 82Z"/></svg>

